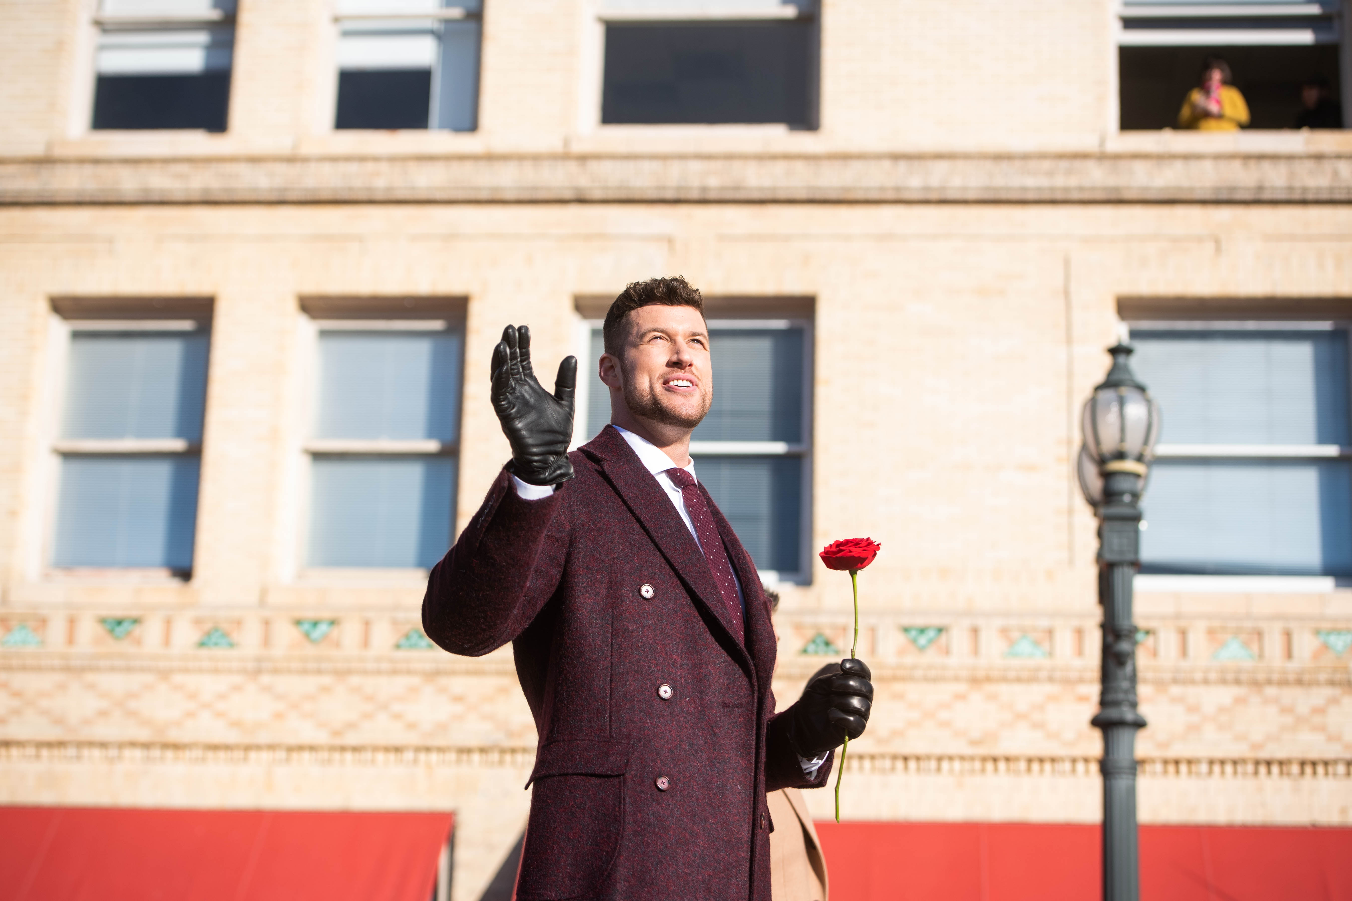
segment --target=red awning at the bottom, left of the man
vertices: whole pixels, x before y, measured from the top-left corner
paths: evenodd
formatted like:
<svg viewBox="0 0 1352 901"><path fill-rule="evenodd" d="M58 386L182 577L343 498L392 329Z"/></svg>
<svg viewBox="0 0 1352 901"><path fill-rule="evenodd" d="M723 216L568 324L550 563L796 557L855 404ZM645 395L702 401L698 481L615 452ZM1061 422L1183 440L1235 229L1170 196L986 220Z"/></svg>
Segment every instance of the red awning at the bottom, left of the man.
<svg viewBox="0 0 1352 901"><path fill-rule="evenodd" d="M0 808L7 901L427 901L450 813Z"/></svg>

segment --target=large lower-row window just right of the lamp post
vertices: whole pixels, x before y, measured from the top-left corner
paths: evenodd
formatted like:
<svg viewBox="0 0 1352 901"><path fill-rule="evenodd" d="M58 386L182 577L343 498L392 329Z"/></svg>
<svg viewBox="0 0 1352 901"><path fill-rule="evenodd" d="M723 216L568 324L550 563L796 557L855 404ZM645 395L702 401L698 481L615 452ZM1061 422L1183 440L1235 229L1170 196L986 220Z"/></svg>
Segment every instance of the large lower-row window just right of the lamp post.
<svg viewBox="0 0 1352 901"><path fill-rule="evenodd" d="M1348 332L1330 323L1137 323L1163 432L1141 571L1352 574Z"/></svg>

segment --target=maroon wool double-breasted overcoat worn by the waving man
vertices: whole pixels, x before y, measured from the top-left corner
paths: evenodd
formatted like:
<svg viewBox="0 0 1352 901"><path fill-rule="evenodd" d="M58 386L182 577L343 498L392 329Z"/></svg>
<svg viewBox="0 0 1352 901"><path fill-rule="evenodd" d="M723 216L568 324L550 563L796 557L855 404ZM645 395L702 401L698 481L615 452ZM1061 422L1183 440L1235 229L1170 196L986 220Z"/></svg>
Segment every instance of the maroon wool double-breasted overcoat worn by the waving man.
<svg viewBox="0 0 1352 901"><path fill-rule="evenodd" d="M453 654L512 642L539 731L516 897L771 901L765 792L821 786L830 761L808 779L775 716L756 567L706 492L745 593L742 644L623 436L607 427L569 458L575 478L545 500L500 473L423 600Z"/></svg>

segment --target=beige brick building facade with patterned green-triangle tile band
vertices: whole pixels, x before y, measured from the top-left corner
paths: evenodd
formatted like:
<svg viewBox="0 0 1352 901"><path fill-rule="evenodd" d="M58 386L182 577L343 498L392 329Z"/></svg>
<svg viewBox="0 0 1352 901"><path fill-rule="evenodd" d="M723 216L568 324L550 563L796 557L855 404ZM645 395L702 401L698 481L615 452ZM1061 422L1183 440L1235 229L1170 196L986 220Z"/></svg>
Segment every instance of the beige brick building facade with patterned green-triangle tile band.
<svg viewBox="0 0 1352 901"><path fill-rule="evenodd" d="M534 727L508 651L418 647L420 570L304 565L307 311L464 316L464 524L508 455L503 324L552 371L596 297L681 273L713 315L808 311L804 543L884 548L846 816L1095 821L1073 461L1103 349L1132 319L1352 319L1352 138L1119 131L1106 0L823 0L814 128L603 126L598 9L488 0L475 131L334 131L330 5L242 0L226 131L93 131L95 16L0 3L3 804L450 809L479 898ZM210 315L191 577L54 566L62 321L165 309ZM1142 580L1142 821L1352 823L1338 585ZM848 646L849 585L780 592L783 704L804 647Z"/></svg>

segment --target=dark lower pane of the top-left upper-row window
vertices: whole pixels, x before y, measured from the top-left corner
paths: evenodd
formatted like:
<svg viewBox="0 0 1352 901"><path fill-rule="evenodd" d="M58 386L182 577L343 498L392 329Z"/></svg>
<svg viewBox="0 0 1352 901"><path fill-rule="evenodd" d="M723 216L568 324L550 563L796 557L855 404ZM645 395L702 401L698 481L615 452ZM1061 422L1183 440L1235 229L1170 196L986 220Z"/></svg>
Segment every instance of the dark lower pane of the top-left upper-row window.
<svg viewBox="0 0 1352 901"><path fill-rule="evenodd" d="M95 128L226 130L230 72L195 76L99 76Z"/></svg>

